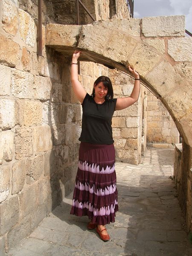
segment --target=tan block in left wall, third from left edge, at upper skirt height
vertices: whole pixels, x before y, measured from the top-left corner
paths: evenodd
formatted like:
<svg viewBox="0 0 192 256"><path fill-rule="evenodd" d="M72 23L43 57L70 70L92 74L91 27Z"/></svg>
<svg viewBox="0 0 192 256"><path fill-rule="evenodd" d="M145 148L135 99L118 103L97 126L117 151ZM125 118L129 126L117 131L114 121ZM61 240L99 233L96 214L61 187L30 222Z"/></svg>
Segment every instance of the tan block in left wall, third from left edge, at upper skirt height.
<svg viewBox="0 0 192 256"><path fill-rule="evenodd" d="M41 175L44 174L44 154L38 154L35 157L26 159L26 182L28 184L39 180Z"/></svg>

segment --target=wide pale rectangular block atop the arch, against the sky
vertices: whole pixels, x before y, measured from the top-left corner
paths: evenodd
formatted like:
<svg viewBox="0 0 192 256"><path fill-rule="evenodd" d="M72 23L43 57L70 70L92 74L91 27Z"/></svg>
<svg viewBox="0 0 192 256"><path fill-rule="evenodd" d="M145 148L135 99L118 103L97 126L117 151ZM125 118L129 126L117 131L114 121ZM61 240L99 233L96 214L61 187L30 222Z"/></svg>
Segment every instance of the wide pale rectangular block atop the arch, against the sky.
<svg viewBox="0 0 192 256"><path fill-rule="evenodd" d="M144 17L142 32L146 37L185 36L185 16Z"/></svg>

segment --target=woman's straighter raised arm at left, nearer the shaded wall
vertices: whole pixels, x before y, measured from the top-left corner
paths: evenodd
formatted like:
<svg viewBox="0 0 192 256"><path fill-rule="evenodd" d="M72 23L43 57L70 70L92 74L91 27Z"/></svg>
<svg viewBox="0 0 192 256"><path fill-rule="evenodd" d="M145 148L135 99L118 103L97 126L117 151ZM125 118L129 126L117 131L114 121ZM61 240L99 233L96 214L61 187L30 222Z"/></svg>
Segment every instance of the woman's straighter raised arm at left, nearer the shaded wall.
<svg viewBox="0 0 192 256"><path fill-rule="evenodd" d="M75 51L73 53L73 57L72 57L72 61L71 61L71 83L72 83L72 87L73 87L73 90L74 90L74 93L75 93L77 99L79 99L79 101L82 104L87 92L82 87L81 83L79 82L79 78L78 78L77 61L78 61L80 54L81 54L80 51Z"/></svg>

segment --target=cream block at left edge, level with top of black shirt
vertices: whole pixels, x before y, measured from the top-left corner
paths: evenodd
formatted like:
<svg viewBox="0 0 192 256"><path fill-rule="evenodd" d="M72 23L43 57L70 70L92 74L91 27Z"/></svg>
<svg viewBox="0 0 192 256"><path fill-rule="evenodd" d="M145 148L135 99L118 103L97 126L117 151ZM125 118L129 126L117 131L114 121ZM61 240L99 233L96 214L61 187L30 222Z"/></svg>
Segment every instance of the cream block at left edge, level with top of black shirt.
<svg viewBox="0 0 192 256"><path fill-rule="evenodd" d="M13 128L17 124L14 99L0 99L0 128Z"/></svg>

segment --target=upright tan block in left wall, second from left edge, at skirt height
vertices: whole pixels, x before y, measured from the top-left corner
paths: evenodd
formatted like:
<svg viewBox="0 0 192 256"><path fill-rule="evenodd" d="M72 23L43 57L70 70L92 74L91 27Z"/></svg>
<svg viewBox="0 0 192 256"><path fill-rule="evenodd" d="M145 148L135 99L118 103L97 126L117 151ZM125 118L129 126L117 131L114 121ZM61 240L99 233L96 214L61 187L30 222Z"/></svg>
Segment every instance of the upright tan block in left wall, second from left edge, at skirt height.
<svg viewBox="0 0 192 256"><path fill-rule="evenodd" d="M21 160L12 165L12 195L23 189L26 175L25 160Z"/></svg>

